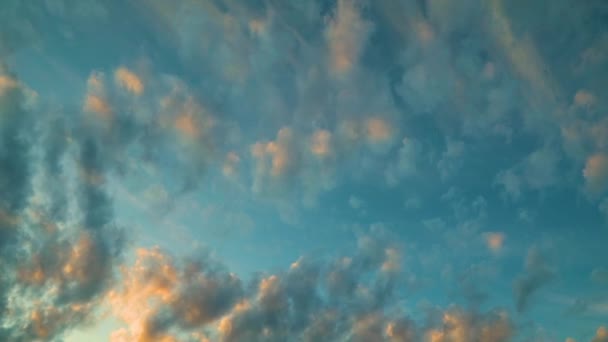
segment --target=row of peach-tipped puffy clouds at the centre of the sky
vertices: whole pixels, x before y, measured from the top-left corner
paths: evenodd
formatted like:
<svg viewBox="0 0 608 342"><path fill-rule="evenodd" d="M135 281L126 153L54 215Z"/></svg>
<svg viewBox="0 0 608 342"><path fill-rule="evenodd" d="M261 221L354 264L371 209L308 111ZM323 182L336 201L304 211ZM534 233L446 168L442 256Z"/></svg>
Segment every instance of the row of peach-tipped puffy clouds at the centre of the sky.
<svg viewBox="0 0 608 342"><path fill-rule="evenodd" d="M320 193L332 189L340 181L337 174L345 171L343 164L362 162L365 155L385 154L395 134L389 121L382 117L345 120L334 131L316 129L308 135L283 127L275 140L251 145L252 191L282 196L295 193L304 204L314 204ZM391 169L394 179L411 174L411 169L415 168L412 165L415 160L405 160L414 158L411 154L415 152L407 149L412 147L402 148ZM228 167L234 163L227 162Z"/></svg>

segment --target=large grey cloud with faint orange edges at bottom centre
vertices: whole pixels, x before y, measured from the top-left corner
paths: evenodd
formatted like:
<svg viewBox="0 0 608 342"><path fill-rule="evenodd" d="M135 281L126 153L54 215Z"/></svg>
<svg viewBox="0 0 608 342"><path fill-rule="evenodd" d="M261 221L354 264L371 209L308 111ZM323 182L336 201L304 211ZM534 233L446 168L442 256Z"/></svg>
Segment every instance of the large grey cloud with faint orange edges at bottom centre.
<svg viewBox="0 0 608 342"><path fill-rule="evenodd" d="M384 338L382 310L393 298L395 279L382 268L388 246L363 236L352 257L326 265L302 258L284 274L263 278L250 307L228 316L223 340Z"/></svg>

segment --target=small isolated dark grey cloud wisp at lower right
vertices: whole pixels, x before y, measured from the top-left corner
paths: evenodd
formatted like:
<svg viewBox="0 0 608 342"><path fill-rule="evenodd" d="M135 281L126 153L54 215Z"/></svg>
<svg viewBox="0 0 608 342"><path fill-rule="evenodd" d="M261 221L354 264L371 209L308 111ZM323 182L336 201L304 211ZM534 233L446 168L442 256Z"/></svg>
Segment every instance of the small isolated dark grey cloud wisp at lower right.
<svg viewBox="0 0 608 342"><path fill-rule="evenodd" d="M528 308L530 297L549 283L555 275L555 271L545 262L536 248L528 251L524 266L524 273L513 283L515 306L519 312Z"/></svg>

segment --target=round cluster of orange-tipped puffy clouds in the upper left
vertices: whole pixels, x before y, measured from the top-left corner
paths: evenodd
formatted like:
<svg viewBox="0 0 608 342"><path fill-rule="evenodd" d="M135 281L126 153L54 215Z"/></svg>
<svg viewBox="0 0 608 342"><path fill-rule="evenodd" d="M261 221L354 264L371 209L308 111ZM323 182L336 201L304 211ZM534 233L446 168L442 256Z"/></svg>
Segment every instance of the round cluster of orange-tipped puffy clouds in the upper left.
<svg viewBox="0 0 608 342"><path fill-rule="evenodd" d="M89 75L78 130L103 145L100 158L112 171L128 175L132 161L140 160L160 172L177 172L173 192L195 188L217 158L216 129L224 128L178 77L125 66L113 73L115 82L101 71ZM167 154L178 167L162 167Z"/></svg>

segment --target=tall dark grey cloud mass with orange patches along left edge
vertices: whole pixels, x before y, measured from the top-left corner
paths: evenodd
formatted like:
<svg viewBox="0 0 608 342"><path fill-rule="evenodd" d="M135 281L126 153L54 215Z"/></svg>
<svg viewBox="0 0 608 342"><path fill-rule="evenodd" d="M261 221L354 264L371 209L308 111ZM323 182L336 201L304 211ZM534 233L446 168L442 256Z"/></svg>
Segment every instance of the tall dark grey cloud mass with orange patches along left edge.
<svg viewBox="0 0 608 342"><path fill-rule="evenodd" d="M0 339L52 340L91 318L123 233L99 142L42 117L14 75L1 77L14 82L0 95Z"/></svg>

